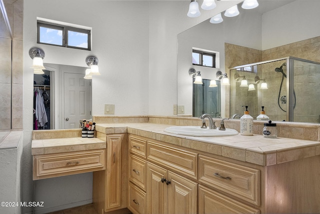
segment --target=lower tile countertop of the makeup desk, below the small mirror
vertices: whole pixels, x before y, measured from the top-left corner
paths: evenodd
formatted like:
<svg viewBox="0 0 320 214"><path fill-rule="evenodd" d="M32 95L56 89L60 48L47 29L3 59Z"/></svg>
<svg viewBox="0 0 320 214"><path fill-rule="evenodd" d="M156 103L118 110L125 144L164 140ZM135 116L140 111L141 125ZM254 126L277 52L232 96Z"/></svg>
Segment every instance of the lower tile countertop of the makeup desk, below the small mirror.
<svg viewBox="0 0 320 214"><path fill-rule="evenodd" d="M67 151L83 151L106 148L104 140L96 137L68 137L53 139L33 139L31 154L50 154Z"/></svg>

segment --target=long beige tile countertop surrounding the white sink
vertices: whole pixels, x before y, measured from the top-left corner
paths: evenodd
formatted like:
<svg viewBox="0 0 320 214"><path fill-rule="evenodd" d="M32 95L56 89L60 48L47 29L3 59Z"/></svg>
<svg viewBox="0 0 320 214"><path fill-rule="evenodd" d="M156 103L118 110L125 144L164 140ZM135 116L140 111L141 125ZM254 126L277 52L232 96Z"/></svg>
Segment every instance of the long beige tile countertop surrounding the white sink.
<svg viewBox="0 0 320 214"><path fill-rule="evenodd" d="M164 132L172 125L154 123L101 123L96 131L111 133L132 133L199 151L229 157L258 165L273 165L301 158L320 155L320 142L292 138L266 138L231 135L196 137Z"/></svg>

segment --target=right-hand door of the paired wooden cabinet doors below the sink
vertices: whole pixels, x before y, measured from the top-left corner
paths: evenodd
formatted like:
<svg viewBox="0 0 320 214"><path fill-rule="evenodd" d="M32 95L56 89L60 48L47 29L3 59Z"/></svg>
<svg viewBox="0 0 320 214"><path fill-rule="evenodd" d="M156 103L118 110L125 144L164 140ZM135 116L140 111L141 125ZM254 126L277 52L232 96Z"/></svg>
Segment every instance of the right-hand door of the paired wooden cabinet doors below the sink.
<svg viewBox="0 0 320 214"><path fill-rule="evenodd" d="M198 184L173 172L167 172L168 213L197 213Z"/></svg>

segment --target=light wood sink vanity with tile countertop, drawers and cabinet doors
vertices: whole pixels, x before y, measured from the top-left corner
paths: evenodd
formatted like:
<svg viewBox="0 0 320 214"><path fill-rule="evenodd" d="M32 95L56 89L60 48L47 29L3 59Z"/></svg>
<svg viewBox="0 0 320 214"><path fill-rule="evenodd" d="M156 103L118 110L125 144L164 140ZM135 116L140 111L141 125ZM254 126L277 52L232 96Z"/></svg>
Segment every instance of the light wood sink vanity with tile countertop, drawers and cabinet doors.
<svg viewBox="0 0 320 214"><path fill-rule="evenodd" d="M164 132L168 126L96 125L94 139L106 144L105 169L93 172L98 213L320 212L319 141L194 137ZM46 155L34 148L34 160Z"/></svg>

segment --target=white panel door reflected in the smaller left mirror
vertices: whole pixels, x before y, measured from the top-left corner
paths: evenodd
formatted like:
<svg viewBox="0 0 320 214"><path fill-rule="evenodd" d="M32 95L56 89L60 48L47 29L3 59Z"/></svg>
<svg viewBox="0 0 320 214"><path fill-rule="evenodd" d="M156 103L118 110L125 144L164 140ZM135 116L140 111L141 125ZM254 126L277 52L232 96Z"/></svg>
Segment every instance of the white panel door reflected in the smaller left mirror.
<svg viewBox="0 0 320 214"><path fill-rule="evenodd" d="M64 73L64 128L79 128L91 118L91 81L83 74Z"/></svg>

